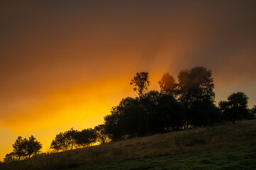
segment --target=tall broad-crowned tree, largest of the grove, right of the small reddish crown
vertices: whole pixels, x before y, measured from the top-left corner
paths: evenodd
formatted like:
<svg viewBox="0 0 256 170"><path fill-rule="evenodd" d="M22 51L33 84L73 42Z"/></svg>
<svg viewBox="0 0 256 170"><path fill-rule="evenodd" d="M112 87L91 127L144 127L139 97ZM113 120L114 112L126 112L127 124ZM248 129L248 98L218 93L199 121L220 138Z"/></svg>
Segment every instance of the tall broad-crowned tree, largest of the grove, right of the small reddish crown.
<svg viewBox="0 0 256 170"><path fill-rule="evenodd" d="M213 88L212 73L205 67L194 67L179 72L175 93L186 110L186 126L193 122L196 123L195 120L192 121L191 119L194 117L194 113L204 115L206 111L212 110L215 98ZM206 106L209 106L209 108L201 107L199 109L198 106L202 106L205 102L208 103ZM201 113L198 113L198 111L201 111Z"/></svg>

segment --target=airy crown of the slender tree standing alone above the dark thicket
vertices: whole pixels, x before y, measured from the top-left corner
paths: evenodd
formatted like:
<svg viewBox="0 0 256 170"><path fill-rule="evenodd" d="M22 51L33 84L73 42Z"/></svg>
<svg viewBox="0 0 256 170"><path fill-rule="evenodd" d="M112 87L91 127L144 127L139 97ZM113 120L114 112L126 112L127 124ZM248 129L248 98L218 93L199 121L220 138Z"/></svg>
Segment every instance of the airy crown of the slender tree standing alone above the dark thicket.
<svg viewBox="0 0 256 170"><path fill-rule="evenodd" d="M148 72L137 72L136 76L132 79L130 85L134 86L134 91L139 94L141 98L144 92L147 90L147 86L149 86L149 73Z"/></svg>

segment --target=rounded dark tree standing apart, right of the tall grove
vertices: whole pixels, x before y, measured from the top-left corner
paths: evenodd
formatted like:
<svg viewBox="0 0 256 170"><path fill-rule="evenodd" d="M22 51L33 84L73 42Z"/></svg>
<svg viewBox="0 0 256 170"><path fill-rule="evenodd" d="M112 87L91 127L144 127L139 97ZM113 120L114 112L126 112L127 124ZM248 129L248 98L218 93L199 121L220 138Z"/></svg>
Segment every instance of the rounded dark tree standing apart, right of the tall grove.
<svg viewBox="0 0 256 170"><path fill-rule="evenodd" d="M223 115L227 116L233 124L235 120L245 118L248 113L248 97L243 92L233 93L228 96L228 101L220 101L219 107Z"/></svg>

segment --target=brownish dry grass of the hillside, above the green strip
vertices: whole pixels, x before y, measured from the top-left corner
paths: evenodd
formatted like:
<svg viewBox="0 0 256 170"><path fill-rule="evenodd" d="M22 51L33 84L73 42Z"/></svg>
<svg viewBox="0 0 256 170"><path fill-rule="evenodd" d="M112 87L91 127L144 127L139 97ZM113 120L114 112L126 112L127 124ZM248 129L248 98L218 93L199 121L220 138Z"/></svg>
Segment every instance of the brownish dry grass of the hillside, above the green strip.
<svg viewBox="0 0 256 170"><path fill-rule="evenodd" d="M238 153L236 155L240 160L242 156L240 157L239 155L245 155L245 153L239 152L240 146L247 146L245 149L248 152L248 149L250 149L248 145L253 144L256 144L255 120L239 122L237 125L219 125L211 128L198 128L149 137L137 137L132 140L112 142L107 145L76 149L70 152L41 154L22 162L0 166L0 169L61 169L75 166L81 166L82 169L91 166L92 169L93 166L96 167L97 165L107 166L108 164L113 164L114 166L114 164L117 164L121 166L124 164L124 166L132 166L142 164L140 161L145 162L145 164L148 164L147 162L151 164L150 162L163 161L162 165L159 166L161 169L162 166L172 166L173 164L168 164L167 162L176 162L176 157L181 159L179 164L184 164L184 166L188 164L189 168L193 167L192 164L197 160L206 157L205 154L215 155L217 160L219 154L222 155L226 148L231 147L234 147L233 149L235 150L233 152ZM174 155L176 156L174 157ZM187 155L195 159L190 159ZM245 155L245 157L250 159L248 155ZM120 161L124 160L128 161L120 163ZM149 166L145 166L145 169L149 169ZM134 169L138 169L136 167L134 166ZM181 167L181 169L186 169L186 167ZM206 167L206 169L208 168Z"/></svg>

